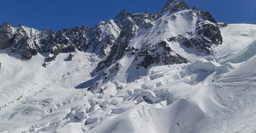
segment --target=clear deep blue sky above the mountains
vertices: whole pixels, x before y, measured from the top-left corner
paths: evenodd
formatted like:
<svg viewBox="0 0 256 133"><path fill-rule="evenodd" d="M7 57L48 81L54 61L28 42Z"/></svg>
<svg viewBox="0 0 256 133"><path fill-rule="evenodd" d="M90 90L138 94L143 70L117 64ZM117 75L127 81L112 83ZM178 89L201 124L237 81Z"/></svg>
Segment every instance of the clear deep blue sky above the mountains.
<svg viewBox="0 0 256 133"><path fill-rule="evenodd" d="M76 25L94 27L126 9L130 13L156 13L167 0L4 0L0 24L9 22L38 30L58 31ZM256 24L256 0L186 0L192 8L209 11L217 22Z"/></svg>

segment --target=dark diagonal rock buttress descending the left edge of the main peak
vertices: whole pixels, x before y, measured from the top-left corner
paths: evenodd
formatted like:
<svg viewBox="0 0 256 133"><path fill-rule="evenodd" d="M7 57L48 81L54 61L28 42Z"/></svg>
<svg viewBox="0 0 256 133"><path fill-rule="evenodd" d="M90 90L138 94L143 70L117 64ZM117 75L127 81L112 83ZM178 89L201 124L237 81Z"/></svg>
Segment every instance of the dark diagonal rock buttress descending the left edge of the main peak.
<svg viewBox="0 0 256 133"><path fill-rule="evenodd" d="M136 36L140 29L148 29L152 27L151 21L157 18L157 15L149 15L148 13L140 13L132 15L123 10L119 15L114 18L115 23L120 27L120 34L113 43L111 52L106 60L99 63L96 71L109 67L115 63L116 60L121 59L125 52L127 52L128 44L131 39Z"/></svg>

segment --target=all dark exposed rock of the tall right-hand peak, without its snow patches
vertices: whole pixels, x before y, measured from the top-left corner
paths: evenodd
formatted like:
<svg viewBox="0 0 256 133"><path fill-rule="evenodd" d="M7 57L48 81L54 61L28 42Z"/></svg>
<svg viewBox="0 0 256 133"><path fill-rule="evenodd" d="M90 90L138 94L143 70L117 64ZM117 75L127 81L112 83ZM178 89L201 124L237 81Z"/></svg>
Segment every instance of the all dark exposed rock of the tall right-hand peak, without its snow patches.
<svg viewBox="0 0 256 133"><path fill-rule="evenodd" d="M163 10L170 10L170 12L172 12L189 10L189 7L188 4L185 3L185 1L179 2L176 0L171 0L165 4ZM143 58L142 62L138 62L136 64L136 68L140 68L141 66L147 68L152 64L159 64L161 62L163 64L179 64L188 62L188 59L181 57L175 52L173 53L170 46L165 44L165 41L161 41L157 44L141 44L141 48L137 50L135 50L136 48L131 48L128 46L130 40L134 38L136 34L138 34L138 31L141 30L141 28L136 29L136 27L151 29L154 25L154 22L157 22L157 20L161 20L161 18L157 19L158 17L158 13L156 13L155 15L148 15L147 13L131 15L130 13L127 13L126 10L122 11L114 19L116 20L116 24L119 24L121 27L120 36L118 37L118 39L116 39L113 47L111 48L111 53L109 54L109 57L99 63L96 71L104 69L104 67L111 66L111 64L115 63L118 59L123 57L125 53L136 55L134 62L136 62L136 60L138 60L139 58ZM173 13L171 20L175 22L177 17L180 17L180 15ZM193 8L193 10L182 13L181 17L189 22L188 29L191 29L192 26L194 26L192 23L196 22L194 27L195 31L186 32L185 34L179 34L178 36L172 36L167 40L170 43L178 42L180 43L180 45L193 49L196 55L213 55L214 51L211 50L211 47L220 45L222 43L222 37L218 24L216 23L214 18L212 18L210 13L207 11L204 12ZM143 23L144 21L141 19L147 20L147 24ZM160 34L161 32L159 32L159 36ZM162 48L162 51L156 52L157 49L160 48Z"/></svg>

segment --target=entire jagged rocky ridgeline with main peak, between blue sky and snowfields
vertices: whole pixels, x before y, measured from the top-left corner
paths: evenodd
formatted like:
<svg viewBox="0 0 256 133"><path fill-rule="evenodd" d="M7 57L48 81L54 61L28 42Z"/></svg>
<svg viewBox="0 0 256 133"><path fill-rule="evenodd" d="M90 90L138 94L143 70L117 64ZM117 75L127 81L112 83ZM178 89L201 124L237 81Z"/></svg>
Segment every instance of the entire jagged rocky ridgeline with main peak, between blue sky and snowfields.
<svg viewBox="0 0 256 133"><path fill-rule="evenodd" d="M219 25L208 11L190 9L185 1L168 0L163 10L131 14L126 10L114 19L100 22L91 28L86 25L54 32L38 31L7 22L0 25L0 50L31 59L41 53L47 66L58 54L76 50L95 53L102 59L96 72L104 71L108 78L111 69L120 71L118 63L125 56L131 57L132 68L148 68L157 64L189 62L182 53L214 55L212 47L221 45ZM184 52L175 48L179 45Z"/></svg>

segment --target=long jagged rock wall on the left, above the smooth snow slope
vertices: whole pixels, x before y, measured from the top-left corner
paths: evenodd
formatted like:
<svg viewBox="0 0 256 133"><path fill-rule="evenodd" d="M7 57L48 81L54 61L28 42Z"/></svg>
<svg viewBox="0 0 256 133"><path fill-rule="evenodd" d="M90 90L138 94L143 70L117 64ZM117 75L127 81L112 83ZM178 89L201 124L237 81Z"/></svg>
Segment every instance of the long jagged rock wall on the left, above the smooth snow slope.
<svg viewBox="0 0 256 133"><path fill-rule="evenodd" d="M38 31L33 28L13 27L6 23L0 27L0 49L18 53L22 59L31 59L37 53L52 53L46 57L51 62L59 53L89 50L104 57L120 33L113 20L102 22L94 28L82 25L73 29L53 32L51 29Z"/></svg>

